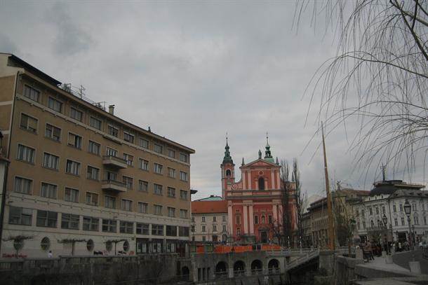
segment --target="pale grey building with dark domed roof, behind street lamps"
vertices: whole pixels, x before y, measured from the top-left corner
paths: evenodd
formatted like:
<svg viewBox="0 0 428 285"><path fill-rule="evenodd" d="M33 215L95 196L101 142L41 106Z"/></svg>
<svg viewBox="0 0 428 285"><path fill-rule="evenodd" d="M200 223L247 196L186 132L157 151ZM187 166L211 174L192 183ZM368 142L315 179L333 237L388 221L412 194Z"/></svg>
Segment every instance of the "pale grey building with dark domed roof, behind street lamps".
<svg viewBox="0 0 428 285"><path fill-rule="evenodd" d="M410 203L410 229L415 242L428 239L428 191L421 184L401 180L383 180L373 183L370 195L354 204L356 230L361 238L375 242L406 242L409 237L408 218L404 212L406 200ZM387 225L383 223L384 216Z"/></svg>

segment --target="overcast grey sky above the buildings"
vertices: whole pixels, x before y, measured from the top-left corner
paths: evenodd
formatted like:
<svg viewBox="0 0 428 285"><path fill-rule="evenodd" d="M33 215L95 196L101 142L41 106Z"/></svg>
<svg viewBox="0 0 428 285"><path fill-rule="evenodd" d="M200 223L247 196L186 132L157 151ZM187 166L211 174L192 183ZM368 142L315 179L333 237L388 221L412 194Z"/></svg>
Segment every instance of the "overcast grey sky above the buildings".
<svg viewBox="0 0 428 285"><path fill-rule="evenodd" d="M83 85L93 101L115 104L117 116L194 148L195 198L221 195L226 132L236 173L242 158L264 151L269 132L272 155L297 158L303 190L323 194L321 137L304 151L317 110L308 114L303 94L335 55L335 41L319 23L311 27L309 15L293 27L294 9L294 1L0 0L0 51ZM343 130L328 136L330 178L370 190L379 169L352 172L348 147ZM424 183L422 174L414 179Z"/></svg>

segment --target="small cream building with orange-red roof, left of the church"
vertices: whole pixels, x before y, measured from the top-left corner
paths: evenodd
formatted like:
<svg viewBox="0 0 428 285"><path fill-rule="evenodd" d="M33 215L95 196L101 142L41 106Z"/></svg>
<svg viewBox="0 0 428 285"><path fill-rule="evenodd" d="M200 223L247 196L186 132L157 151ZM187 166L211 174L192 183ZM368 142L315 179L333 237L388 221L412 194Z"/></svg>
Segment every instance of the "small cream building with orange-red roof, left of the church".
<svg viewBox="0 0 428 285"><path fill-rule="evenodd" d="M192 201L191 231L196 242L227 242L227 201L213 196Z"/></svg>

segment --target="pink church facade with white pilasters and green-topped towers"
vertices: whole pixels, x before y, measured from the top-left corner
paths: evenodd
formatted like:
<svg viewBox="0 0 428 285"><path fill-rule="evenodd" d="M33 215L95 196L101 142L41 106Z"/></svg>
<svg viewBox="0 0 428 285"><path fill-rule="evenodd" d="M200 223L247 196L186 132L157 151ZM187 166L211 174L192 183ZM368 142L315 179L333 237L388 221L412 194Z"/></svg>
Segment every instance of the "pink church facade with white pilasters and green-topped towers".
<svg viewBox="0 0 428 285"><path fill-rule="evenodd" d="M234 240L270 242L282 226L282 183L278 163L272 158L269 143L265 157L259 151L258 159L248 164L242 160L241 179L235 181L234 162L226 143L222 165L222 197L227 200L229 235ZM292 195L291 195L292 196ZM290 224L296 228L295 203L288 201Z"/></svg>

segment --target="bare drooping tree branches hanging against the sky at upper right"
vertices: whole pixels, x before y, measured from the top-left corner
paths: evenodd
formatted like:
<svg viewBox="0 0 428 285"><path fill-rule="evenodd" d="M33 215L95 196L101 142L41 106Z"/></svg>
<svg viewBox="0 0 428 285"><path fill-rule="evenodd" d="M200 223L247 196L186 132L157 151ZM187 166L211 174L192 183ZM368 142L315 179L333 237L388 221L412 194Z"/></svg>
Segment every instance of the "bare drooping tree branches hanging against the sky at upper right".
<svg viewBox="0 0 428 285"><path fill-rule="evenodd" d="M295 7L297 29L309 12L314 27L325 15L325 32L337 32L337 55L316 71L306 91L309 108L321 94L317 121L325 120L329 131L358 122L350 149L366 174L367 166L382 161L410 179L417 167L425 172L428 1L304 0Z"/></svg>

